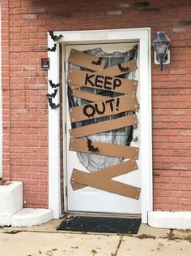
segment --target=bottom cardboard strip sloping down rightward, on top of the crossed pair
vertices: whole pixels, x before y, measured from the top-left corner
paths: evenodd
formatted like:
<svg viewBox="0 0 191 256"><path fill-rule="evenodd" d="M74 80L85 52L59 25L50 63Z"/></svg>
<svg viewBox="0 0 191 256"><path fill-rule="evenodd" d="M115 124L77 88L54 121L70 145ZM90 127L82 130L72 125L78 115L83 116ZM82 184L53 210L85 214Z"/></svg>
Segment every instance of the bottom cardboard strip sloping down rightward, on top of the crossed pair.
<svg viewBox="0 0 191 256"><path fill-rule="evenodd" d="M129 184L121 183L116 180L109 180L99 174L94 174L91 176L89 173L84 171L79 171L77 169L73 170L71 180L79 184L85 184L96 189L101 189L110 193L117 193L124 197L130 197L138 199L141 189L134 187Z"/></svg>

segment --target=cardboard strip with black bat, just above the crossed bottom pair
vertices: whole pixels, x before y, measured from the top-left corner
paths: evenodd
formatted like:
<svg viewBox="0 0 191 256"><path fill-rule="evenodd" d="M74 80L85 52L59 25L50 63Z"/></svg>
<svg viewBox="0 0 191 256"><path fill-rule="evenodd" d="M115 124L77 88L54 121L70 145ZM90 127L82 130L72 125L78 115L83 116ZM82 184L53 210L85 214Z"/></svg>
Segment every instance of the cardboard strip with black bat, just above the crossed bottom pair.
<svg viewBox="0 0 191 256"><path fill-rule="evenodd" d="M117 158L129 158L138 159L138 148L129 145L117 145L110 143L100 143L91 141L91 149L89 150L87 141L79 139L70 139L69 150L89 153L113 156Z"/></svg>

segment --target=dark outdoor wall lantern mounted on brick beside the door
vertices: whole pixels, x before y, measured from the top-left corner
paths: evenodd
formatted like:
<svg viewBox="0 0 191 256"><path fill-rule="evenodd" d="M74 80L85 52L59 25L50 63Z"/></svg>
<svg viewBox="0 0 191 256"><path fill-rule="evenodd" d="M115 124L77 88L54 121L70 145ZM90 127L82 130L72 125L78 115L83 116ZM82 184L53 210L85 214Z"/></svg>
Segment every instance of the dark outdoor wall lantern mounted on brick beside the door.
<svg viewBox="0 0 191 256"><path fill-rule="evenodd" d="M168 38L167 34L163 31L156 33L155 40L151 41L154 47L154 61L155 64L159 64L160 71L163 71L163 64L170 63L170 50L168 49L171 40Z"/></svg>

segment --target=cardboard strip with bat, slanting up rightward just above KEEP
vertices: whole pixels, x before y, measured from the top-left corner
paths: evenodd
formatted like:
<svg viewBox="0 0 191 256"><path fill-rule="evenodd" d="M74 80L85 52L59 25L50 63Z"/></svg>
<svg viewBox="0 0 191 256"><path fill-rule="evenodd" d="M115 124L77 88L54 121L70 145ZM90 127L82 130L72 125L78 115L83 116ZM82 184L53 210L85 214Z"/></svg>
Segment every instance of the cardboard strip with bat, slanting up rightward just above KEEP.
<svg viewBox="0 0 191 256"><path fill-rule="evenodd" d="M135 60L129 60L125 63L117 64L112 67L107 67L103 69L99 74L104 76L119 76L122 74L126 74L132 72L133 70L137 69L137 63ZM97 73L97 72L96 72Z"/></svg>

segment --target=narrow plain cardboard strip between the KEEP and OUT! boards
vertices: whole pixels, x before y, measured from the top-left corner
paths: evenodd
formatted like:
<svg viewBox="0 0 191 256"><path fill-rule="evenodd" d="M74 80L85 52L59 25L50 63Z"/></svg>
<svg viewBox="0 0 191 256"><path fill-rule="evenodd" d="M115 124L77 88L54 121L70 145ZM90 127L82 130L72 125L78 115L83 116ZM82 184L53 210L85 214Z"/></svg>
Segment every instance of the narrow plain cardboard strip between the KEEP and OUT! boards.
<svg viewBox="0 0 191 256"><path fill-rule="evenodd" d="M110 98L108 96L102 96L102 95L96 94L96 93L88 93L86 91L82 91L79 89L74 89L72 93L75 98L83 98L90 102L99 102L99 101L104 101L104 100L107 100L108 98Z"/></svg>

